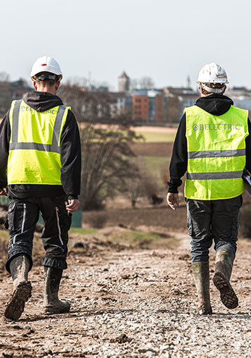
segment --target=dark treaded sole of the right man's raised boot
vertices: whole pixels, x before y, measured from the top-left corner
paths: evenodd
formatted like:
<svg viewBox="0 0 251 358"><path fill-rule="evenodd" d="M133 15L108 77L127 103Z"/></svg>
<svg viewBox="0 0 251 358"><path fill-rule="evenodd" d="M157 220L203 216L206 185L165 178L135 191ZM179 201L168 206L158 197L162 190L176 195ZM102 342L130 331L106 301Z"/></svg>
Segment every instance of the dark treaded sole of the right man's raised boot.
<svg viewBox="0 0 251 358"><path fill-rule="evenodd" d="M231 284L228 283L226 278L220 272L214 274L213 282L221 294L221 302L224 306L229 309L238 307L238 297L235 295Z"/></svg>

